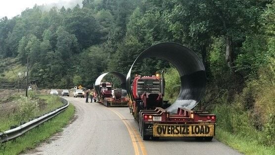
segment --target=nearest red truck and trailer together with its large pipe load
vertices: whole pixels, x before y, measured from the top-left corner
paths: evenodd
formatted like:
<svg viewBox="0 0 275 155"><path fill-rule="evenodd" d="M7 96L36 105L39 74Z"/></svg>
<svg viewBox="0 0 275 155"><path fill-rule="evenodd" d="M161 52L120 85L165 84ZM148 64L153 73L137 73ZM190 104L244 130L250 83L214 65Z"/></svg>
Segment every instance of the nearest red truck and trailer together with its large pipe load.
<svg viewBox="0 0 275 155"><path fill-rule="evenodd" d="M178 99L164 101L165 79L161 75L131 75L138 60L159 57L168 60L179 71L181 90ZM199 57L177 43L160 43L141 52L130 68L126 87L130 97L130 112L138 122L143 140L160 137L194 137L211 141L215 136L216 116L194 110L205 90L205 68Z"/></svg>

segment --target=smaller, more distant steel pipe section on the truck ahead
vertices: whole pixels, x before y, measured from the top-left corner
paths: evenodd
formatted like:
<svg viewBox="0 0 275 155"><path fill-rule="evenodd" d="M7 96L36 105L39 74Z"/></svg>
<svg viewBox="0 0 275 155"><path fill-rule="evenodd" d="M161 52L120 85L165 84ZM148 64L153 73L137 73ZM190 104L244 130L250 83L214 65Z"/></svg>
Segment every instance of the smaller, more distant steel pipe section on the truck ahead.
<svg viewBox="0 0 275 155"><path fill-rule="evenodd" d="M125 75L119 73L119 72L107 72L107 73L103 73L101 75L99 75L97 77L97 79L95 80L95 83L94 83L94 88L95 88L95 91L98 95L102 95L101 94L101 91L100 91L100 83L102 81L102 79L107 75L107 74L113 74L115 75L119 80L120 80L120 88L123 89L123 90L126 90L126 77ZM123 96L126 96L126 94L122 94Z"/></svg>

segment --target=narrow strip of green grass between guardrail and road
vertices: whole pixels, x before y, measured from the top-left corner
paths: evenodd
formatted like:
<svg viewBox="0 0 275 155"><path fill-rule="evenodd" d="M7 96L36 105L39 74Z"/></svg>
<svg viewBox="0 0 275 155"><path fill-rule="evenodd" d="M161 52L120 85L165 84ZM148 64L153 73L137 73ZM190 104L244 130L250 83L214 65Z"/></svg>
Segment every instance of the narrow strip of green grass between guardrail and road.
<svg viewBox="0 0 275 155"><path fill-rule="evenodd" d="M24 150L34 149L40 142L62 131L62 128L73 118L74 110L75 107L70 104L65 111L25 135L0 145L0 155L17 155Z"/></svg>

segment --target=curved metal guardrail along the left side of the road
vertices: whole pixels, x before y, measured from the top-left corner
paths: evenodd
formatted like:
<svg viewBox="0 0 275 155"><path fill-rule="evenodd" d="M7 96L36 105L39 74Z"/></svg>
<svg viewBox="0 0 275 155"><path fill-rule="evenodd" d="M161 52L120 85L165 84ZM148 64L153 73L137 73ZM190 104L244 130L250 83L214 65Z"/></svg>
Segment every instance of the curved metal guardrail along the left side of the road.
<svg viewBox="0 0 275 155"><path fill-rule="evenodd" d="M59 114L60 112L62 112L63 110L65 110L68 106L69 106L69 102L63 98L61 98L61 102L64 103L65 105L50 112L47 113L39 118L36 118L34 120L31 120L21 126L18 126L14 129L10 129L7 131L4 131L2 133L0 133L0 143L4 143L7 142L9 140L15 139L19 136L22 136L23 134L25 134L26 132L28 132L29 130L37 127L38 125L46 122L47 120L49 120L50 118L56 116L57 114Z"/></svg>

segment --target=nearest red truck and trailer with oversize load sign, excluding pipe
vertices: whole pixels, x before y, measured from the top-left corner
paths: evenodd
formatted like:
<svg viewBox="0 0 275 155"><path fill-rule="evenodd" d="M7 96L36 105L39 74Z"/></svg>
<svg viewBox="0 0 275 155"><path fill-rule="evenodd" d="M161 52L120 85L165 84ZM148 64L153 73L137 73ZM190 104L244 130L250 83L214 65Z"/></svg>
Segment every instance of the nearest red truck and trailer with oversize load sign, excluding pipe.
<svg viewBox="0 0 275 155"><path fill-rule="evenodd" d="M136 114L143 140L156 140L159 137L195 137L211 141L215 135L216 116L183 107L179 107L175 114L165 110L169 103L163 100L161 93L162 77L138 75L133 81L135 100L130 105L130 111Z"/></svg>

